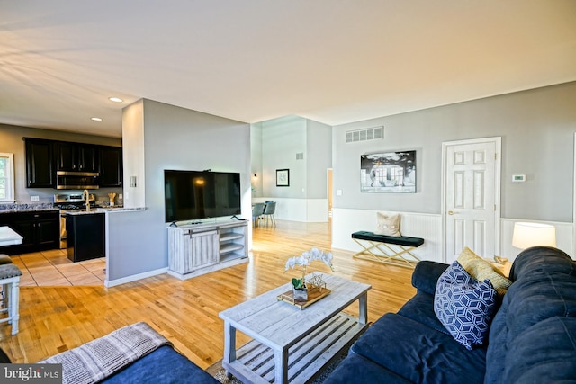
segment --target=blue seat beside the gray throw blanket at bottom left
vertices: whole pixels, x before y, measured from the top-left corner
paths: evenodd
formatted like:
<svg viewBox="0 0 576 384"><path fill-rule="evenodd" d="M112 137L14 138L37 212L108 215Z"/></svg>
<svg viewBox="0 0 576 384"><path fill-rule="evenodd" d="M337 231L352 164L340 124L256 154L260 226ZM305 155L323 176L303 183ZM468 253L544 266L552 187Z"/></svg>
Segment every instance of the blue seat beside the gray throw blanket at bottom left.
<svg viewBox="0 0 576 384"><path fill-rule="evenodd" d="M161 346L101 382L109 384L219 383L169 345Z"/></svg>

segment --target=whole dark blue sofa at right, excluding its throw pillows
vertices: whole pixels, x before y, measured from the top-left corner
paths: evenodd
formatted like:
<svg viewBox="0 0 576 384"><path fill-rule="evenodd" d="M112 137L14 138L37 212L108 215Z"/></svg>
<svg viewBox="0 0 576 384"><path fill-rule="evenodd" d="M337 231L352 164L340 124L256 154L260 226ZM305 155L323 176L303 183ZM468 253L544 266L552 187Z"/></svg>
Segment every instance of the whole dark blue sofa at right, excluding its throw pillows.
<svg viewBox="0 0 576 384"><path fill-rule="evenodd" d="M576 382L576 263L570 256L543 246L518 255L488 341L472 350L455 341L434 311L437 281L448 267L418 263L417 294L374 322L325 384Z"/></svg>

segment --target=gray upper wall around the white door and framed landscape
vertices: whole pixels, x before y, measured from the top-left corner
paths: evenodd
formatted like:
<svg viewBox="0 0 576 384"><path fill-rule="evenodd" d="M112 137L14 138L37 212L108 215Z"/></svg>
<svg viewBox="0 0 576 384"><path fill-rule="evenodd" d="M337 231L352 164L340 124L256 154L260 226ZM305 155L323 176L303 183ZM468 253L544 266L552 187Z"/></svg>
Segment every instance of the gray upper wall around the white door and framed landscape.
<svg viewBox="0 0 576 384"><path fill-rule="evenodd" d="M440 213L442 143L502 138L502 218L572 222L576 83L554 85L334 127L335 208ZM384 127L383 140L346 143ZM417 150L417 193L361 193L360 156ZM512 183L527 174L526 183Z"/></svg>

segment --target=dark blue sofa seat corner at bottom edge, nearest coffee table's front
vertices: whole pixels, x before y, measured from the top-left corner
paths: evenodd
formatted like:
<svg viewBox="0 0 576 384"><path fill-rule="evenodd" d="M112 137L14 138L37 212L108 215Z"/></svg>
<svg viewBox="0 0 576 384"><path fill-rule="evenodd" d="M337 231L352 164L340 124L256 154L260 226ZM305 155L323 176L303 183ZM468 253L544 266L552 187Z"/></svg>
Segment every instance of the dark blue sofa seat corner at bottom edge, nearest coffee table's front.
<svg viewBox="0 0 576 384"><path fill-rule="evenodd" d="M347 358L338 364L336 370L324 380L324 384L410 384L394 372L351 352Z"/></svg>

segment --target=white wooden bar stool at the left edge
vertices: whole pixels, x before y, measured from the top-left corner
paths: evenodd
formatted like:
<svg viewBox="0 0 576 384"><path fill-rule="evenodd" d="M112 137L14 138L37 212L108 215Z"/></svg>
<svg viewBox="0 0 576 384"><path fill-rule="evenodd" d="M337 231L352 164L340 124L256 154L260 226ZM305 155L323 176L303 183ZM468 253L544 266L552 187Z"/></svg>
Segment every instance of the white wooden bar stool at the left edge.
<svg viewBox="0 0 576 384"><path fill-rule="evenodd" d="M12 324L12 335L18 333L18 301L20 299L20 276L22 272L13 263L0 264L0 285L2 285L2 309L8 317L0 319L0 323Z"/></svg>

